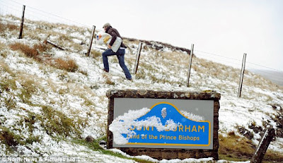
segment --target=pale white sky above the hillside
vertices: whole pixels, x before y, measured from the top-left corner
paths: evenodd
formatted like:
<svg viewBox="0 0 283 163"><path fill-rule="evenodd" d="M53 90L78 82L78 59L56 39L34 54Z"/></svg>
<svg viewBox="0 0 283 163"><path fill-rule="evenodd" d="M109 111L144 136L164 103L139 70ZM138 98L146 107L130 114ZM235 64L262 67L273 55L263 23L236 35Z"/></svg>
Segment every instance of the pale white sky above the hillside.
<svg viewBox="0 0 283 163"><path fill-rule="evenodd" d="M194 44L197 56L231 66L241 67L246 53L247 68L283 71L281 0L1 1L24 4L37 18L45 11L100 30L110 23L122 37Z"/></svg>

